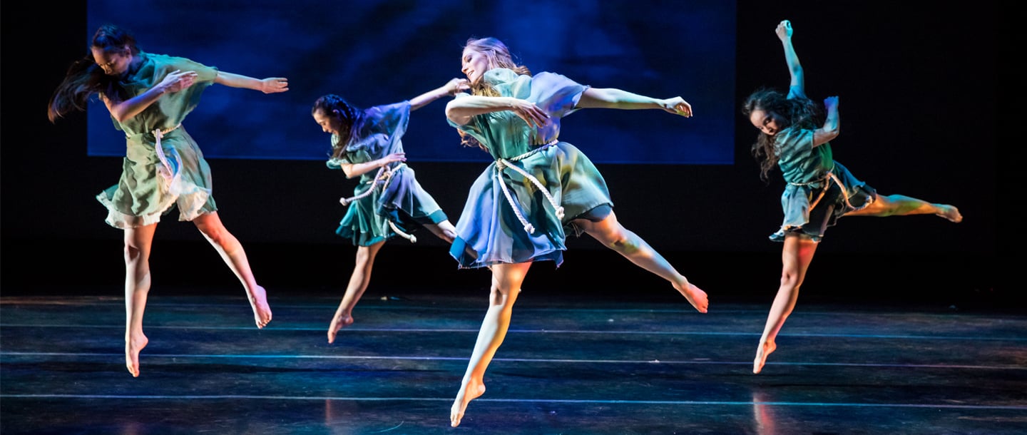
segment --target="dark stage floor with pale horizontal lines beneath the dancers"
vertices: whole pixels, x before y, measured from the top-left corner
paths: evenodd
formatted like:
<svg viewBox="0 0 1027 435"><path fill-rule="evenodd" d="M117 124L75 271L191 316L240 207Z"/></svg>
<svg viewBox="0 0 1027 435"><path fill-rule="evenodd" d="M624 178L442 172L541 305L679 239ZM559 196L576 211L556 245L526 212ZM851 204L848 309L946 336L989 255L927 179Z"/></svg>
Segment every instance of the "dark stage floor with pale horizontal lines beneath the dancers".
<svg viewBox="0 0 1027 435"><path fill-rule="evenodd" d="M88 293L87 291L84 291ZM458 428L449 408L484 292L151 292L142 373L110 296L0 298L0 432L14 434L1023 434L1027 316L803 304L760 374L767 301L526 290ZM768 295L769 296L769 295Z"/></svg>

